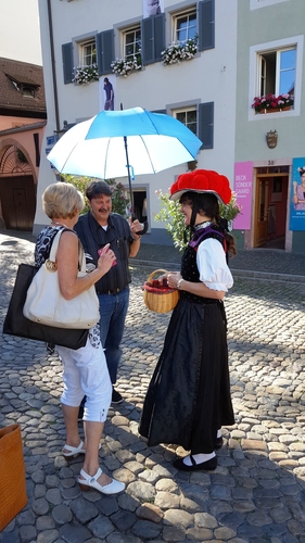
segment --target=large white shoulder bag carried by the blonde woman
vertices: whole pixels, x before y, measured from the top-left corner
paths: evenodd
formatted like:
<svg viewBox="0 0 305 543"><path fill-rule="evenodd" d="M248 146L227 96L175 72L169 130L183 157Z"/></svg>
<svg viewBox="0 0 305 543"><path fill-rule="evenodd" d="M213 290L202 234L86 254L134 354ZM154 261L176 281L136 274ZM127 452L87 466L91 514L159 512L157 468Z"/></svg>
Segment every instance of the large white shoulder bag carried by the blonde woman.
<svg viewBox="0 0 305 543"><path fill-rule="evenodd" d="M65 300L60 290L56 252L61 235L54 237L50 256L34 277L26 295L23 314L29 320L55 328L84 328L94 326L100 319L99 299L94 286L81 294ZM78 277L86 273L85 253L79 254Z"/></svg>

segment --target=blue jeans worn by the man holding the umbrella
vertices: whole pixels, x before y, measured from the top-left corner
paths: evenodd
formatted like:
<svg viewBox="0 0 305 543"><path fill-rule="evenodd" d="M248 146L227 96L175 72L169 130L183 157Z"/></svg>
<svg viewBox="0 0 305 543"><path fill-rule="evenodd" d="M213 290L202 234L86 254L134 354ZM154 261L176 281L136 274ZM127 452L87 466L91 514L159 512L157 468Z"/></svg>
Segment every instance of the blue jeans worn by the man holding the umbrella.
<svg viewBox="0 0 305 543"><path fill-rule="evenodd" d="M111 382L115 384L118 363L122 356L119 349L129 303L129 287L117 294L98 294L100 301L101 342L105 349Z"/></svg>

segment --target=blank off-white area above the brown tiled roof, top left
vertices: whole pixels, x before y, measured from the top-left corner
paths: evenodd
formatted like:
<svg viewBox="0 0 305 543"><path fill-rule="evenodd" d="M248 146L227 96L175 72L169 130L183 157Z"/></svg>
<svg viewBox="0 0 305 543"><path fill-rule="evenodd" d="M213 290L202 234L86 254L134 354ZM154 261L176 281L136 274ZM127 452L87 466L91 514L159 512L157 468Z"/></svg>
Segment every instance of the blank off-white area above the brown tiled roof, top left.
<svg viewBox="0 0 305 543"><path fill-rule="evenodd" d="M38 0L0 0L0 56L41 66Z"/></svg>

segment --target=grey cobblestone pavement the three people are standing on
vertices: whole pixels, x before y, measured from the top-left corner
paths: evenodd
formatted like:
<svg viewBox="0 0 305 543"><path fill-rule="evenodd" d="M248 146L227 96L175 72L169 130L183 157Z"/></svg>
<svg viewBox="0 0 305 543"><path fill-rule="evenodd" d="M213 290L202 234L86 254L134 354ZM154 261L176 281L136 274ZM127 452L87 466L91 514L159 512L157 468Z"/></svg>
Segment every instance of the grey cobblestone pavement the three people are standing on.
<svg viewBox="0 0 305 543"><path fill-rule="evenodd" d="M31 262L33 248L0 233L1 326L17 265ZM169 319L144 306L152 269L132 267L117 383L124 402L111 407L101 442L101 465L126 483L118 496L81 492L81 459L61 454L58 355L0 334L0 427L22 427L28 494L0 542L305 543L305 283L236 277L226 299L236 425L223 429L217 469L190 475L171 466L174 445L149 449L138 435Z"/></svg>

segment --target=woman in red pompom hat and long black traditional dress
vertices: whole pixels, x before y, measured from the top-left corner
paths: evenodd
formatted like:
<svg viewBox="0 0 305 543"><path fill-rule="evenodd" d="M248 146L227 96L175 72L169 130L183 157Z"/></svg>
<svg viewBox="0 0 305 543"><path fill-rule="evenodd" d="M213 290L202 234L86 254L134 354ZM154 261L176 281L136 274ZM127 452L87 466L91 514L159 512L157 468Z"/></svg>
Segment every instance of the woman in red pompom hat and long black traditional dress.
<svg viewBox="0 0 305 543"><path fill-rule="evenodd" d="M150 446L178 444L190 451L174 462L177 469L214 470L221 426L234 424L223 299L233 285L227 262L236 247L218 203L228 204L231 190L227 177L196 169L178 177L170 198L179 200L192 237L181 272L167 274L168 286L180 290L180 299L148 389L139 432Z"/></svg>

